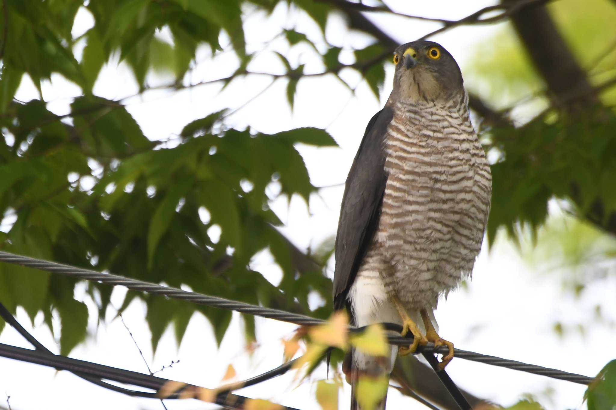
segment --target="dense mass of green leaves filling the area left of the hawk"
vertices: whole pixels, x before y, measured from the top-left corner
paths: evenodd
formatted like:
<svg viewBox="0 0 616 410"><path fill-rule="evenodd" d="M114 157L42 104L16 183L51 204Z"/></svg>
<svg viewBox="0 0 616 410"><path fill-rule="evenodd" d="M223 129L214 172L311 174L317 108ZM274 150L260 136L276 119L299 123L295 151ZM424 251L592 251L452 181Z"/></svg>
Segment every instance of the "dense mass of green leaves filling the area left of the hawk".
<svg viewBox="0 0 616 410"><path fill-rule="evenodd" d="M308 294L316 291L327 302L312 314L326 317L331 280L318 264L296 276L294 249L274 228L280 221L269 210L274 197L266 191L307 201L315 187L294 144L335 146L328 133L229 129L222 111L187 124L176 138L150 141L120 101L92 95L100 69L114 55L131 67L142 90L152 71L172 73L182 84L198 47L212 54L222 50L221 31L230 39L241 75L252 57L245 49L242 8L271 12L274 6L233 0L9 0L0 7L0 33L6 30L8 39L2 42L0 71L0 213L7 231L0 233L0 248L304 312L310 312ZM302 1L294 6L324 28L326 7ZM74 37L79 9L89 12L94 24ZM162 31L171 33L171 41ZM291 44L308 41L291 30L286 35ZM78 60L80 42L85 47ZM335 71L337 55L323 59ZM56 116L42 100L12 100L24 74L41 92L41 82L52 73L83 91L70 114ZM301 69L293 73L296 84ZM291 103L293 95L294 88ZM212 227L219 229L219 238ZM254 254L265 248L283 270L278 286L249 269ZM32 320L43 312L50 328L52 312L57 313L62 354L86 336L87 309L73 298L74 287L68 278L0 266L2 303L12 312L22 306ZM89 283L88 292L102 320L111 288ZM132 292L120 312L135 297L147 302L154 348L169 323L181 341L195 310L211 321L218 342L231 318L230 312ZM253 338L254 318L244 319Z"/></svg>

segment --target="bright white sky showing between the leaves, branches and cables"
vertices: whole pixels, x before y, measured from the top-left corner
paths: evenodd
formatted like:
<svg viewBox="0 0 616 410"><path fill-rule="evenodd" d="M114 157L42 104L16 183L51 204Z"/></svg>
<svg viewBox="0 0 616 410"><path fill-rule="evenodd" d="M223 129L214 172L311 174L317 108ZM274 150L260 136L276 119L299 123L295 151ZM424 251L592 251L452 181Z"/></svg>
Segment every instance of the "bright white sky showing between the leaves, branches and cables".
<svg viewBox="0 0 616 410"><path fill-rule="evenodd" d="M395 10L409 14L440 18L460 18L493 4L490 1L475 2L407 2L389 1ZM292 16L287 19L282 8L277 9L265 23L262 15L253 15L246 24L246 37L250 39L249 47L258 47L262 42L276 36L280 27L306 30L318 39L315 25L305 17ZM417 22L402 18L373 16L374 20L387 28L387 31L400 43L412 41L438 25ZM82 33L91 24L91 17L80 13L75 31ZM363 47L371 42L368 37L359 34L347 35L342 30L339 17L332 17L328 26L328 40L335 45ZM474 44L485 41L495 30L494 26L461 27L448 31L434 38L444 45L458 60L463 70L472 55ZM222 40L222 44L226 44ZM83 46L83 45L82 45ZM286 52L285 41L275 41L269 50ZM343 52L341 59L348 60L348 53ZM347 59L347 60L344 60ZM230 74L235 69L236 60L232 53L225 53L214 61L208 60L206 53L198 57L200 64L190 77L191 82L216 79ZM296 47L290 53L291 65L307 63L307 72L318 72L322 67L315 63L309 47ZM253 71L280 72L282 65L272 53L262 53L253 65ZM391 91L392 67L387 68L381 100ZM359 81L352 72L343 73L350 84ZM167 91L148 92L145 97L131 98L126 101L129 111L136 117L151 139L168 138L180 132L182 127L193 119L209 114L221 108L237 108L253 95L260 92L270 79L268 77L249 77L233 81L223 93L218 93L220 85L205 85L182 92ZM168 84L168 77L150 77L151 84ZM351 166L355 151L359 146L363 129L368 119L381 107L367 85L360 84L356 97L352 98L333 77L318 77L299 82L294 111L291 112L285 97L286 81L278 81L253 103L233 114L228 124L243 128L250 125L261 132L277 132L289 128L312 126L323 127L334 136L341 148L315 149L302 146L300 151L306 160L310 178L315 186L330 186L344 182ZM122 98L136 93L137 87L125 66L111 63L105 66L94 92L106 98ZM79 89L54 75L51 84L44 84L43 94L49 108L57 114L68 112L70 97L79 95ZM23 81L17 98L28 101L36 98L31 82ZM301 248L316 246L336 232L342 186L322 189L320 195L313 195L310 208L301 199L293 198L290 207L285 200L272 204L274 210L286 223L282 230ZM253 269L261 271L269 280L277 283L280 270L272 264L269 253L264 252L254 260ZM123 272L114 272L123 274ZM331 275L331 269L328 275ZM473 350L488 355L526 361L537 365L563 369L573 373L594 376L603 365L613 358L613 353L606 350L606 341L615 339L614 329L606 325L590 325L585 335L572 334L559 339L554 334L554 322L561 321L565 326L592 317L596 304L601 304L604 312L616 310L616 281L604 280L594 283L583 293L580 300L573 300L561 289L559 274L538 274L527 266L513 246L502 241L488 254L486 250L480 255L474 270L474 279L468 290L450 294L448 300L440 303L436 316L439 320L440 333L453 341L456 347ZM125 290L116 289L112 302L120 306ZM83 295L83 291L76 294ZM81 296L80 296L81 297ZM91 306L94 309L94 306ZM108 317L113 317L112 309ZM92 318L95 315L91 315ZM192 318L182 345L177 347L172 329L164 333L155 357L150 347L150 332L145 323L145 306L133 302L124 314L124 319L143 350L150 368L159 369L172 360L180 360L172 368L160 373L161 377L182 380L204 387L220 385L221 377L227 365L232 364L239 379L254 376L282 361L283 337L290 336L293 325L257 318L257 340L259 348L250 357L244 349L241 336L241 323L234 315L229 331L222 342L221 349L216 348L211 326L201 315ZM18 320L30 329L34 336L49 349L58 351L54 337L44 326L43 318L36 318L36 327L30 323L23 310L18 310ZM71 352L71 357L117 366L134 371L146 372L128 332L119 320L108 323L95 331L95 322L89 327L91 336L87 341ZM7 328L0 335L0 342L23 347L30 347L18 334ZM609 344L607 344L609 345ZM122 409L161 409L160 402L130 398L115 392L108 392L67 372L57 373L53 369L28 365L18 361L0 358L0 403L2 395L10 396L10 405L14 410L23 409L73 409L88 408L92 410ZM448 373L461 387L496 403L513 404L524 393L538 395L541 403L550 409L585 408L582 396L585 387L569 382L552 380L546 377L520 373L509 369L472 363L461 359L453 360L447 367ZM299 387L293 382L293 374L270 380L251 388L238 391L239 394L253 398L266 398L287 406L301 409L318 409L314 398L314 386L306 382ZM313 380L326 377L325 367L321 366L312 376ZM551 400L546 400L543 393L552 391ZM341 408L347 408L350 388L345 386L340 396ZM168 401L171 409L209 409L211 404L197 401ZM387 407L423 408L411 398L403 397L390 390Z"/></svg>

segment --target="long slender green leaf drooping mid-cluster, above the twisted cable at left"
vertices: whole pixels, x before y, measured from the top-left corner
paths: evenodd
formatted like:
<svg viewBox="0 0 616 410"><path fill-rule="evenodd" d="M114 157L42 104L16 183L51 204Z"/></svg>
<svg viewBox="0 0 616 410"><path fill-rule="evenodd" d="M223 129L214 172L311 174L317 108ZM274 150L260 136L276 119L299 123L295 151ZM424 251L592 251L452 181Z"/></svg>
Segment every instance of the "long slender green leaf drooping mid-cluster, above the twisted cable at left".
<svg viewBox="0 0 616 410"><path fill-rule="evenodd" d="M180 179L180 181L174 184L171 189L169 189L169 192L164 195L164 199L161 201L160 205L158 205L158 208L156 208L148 229L148 269L152 269L156 246L158 246L158 242L169 228L176 214L177 203L180 198L188 192L192 185L192 178L185 177Z"/></svg>

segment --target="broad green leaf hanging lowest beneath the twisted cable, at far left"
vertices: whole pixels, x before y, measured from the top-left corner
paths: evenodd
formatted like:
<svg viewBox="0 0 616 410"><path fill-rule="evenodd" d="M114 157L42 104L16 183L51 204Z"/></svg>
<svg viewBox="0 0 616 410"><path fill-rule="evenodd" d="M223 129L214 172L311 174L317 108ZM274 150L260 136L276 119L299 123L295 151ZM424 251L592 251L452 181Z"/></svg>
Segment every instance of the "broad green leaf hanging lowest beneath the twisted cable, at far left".
<svg viewBox="0 0 616 410"><path fill-rule="evenodd" d="M60 355L68 353L86 339L87 306L72 298L65 298L55 306L60 314Z"/></svg>

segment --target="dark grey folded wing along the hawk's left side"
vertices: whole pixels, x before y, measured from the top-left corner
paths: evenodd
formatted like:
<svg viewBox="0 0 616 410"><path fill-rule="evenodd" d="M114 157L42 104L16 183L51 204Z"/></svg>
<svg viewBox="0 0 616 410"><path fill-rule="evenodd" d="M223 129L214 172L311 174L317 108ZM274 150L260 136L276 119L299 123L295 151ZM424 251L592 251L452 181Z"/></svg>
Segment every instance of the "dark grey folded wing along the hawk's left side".
<svg viewBox="0 0 616 410"><path fill-rule="evenodd" d="M385 107L370 119L347 176L335 245L336 310L346 305L349 288L378 227L387 182L383 143L393 116L392 109Z"/></svg>

